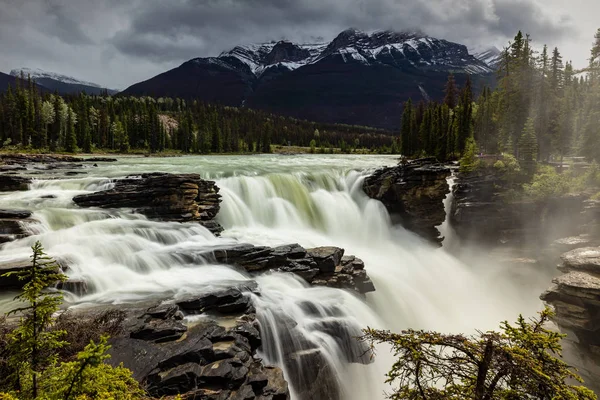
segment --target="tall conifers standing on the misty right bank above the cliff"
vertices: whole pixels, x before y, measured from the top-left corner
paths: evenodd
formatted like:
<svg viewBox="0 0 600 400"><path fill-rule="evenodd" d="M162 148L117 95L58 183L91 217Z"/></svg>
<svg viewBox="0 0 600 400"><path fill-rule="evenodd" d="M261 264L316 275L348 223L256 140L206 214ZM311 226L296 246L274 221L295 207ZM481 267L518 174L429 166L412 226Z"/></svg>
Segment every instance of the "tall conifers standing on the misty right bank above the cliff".
<svg viewBox="0 0 600 400"><path fill-rule="evenodd" d="M575 71L557 48L535 52L519 32L502 53L495 90L475 99L470 80L457 88L450 76L441 104L406 102L402 154L454 159L473 138L486 154L600 161L600 30L594 39L589 66Z"/></svg>

